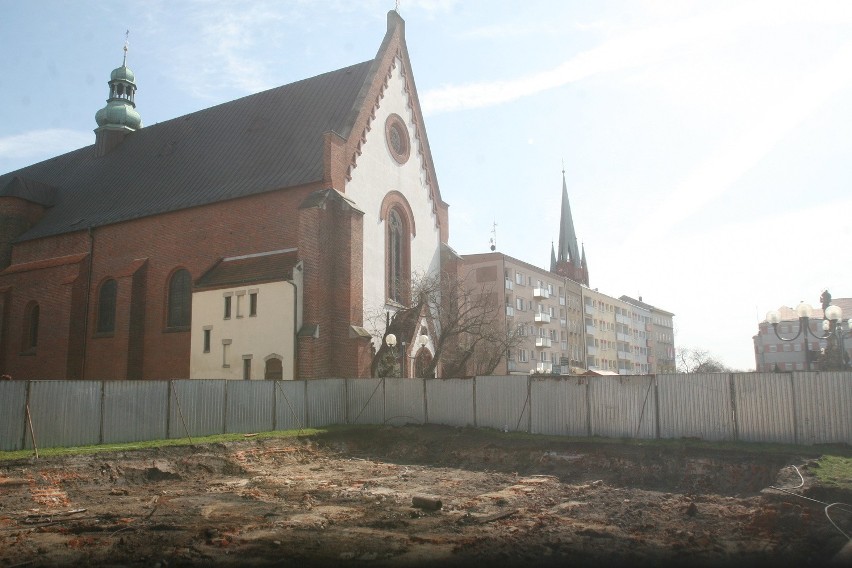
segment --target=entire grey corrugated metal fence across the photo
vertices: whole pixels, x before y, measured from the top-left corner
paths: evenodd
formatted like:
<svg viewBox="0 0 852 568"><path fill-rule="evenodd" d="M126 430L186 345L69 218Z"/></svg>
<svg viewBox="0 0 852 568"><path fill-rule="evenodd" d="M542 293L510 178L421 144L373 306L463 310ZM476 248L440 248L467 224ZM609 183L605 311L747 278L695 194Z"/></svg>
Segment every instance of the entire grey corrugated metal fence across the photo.
<svg viewBox="0 0 852 568"><path fill-rule="evenodd" d="M0 382L2 451L355 423L852 444L852 373Z"/></svg>

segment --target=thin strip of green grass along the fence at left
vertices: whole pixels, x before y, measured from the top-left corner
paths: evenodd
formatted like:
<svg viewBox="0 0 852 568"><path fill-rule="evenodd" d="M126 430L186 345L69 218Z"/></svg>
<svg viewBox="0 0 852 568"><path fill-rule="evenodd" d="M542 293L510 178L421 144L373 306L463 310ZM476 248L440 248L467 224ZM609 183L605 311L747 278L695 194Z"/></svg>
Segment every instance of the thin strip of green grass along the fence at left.
<svg viewBox="0 0 852 568"><path fill-rule="evenodd" d="M70 456L97 454L101 452L124 452L132 450L149 450L154 448L166 448L170 446L202 446L206 444L218 444L225 442L236 442L240 440L263 440L268 438L295 438L297 436L315 436L326 432L327 429L304 428L302 430L275 430L273 432L258 432L251 436L245 434L217 434L192 438L175 438L171 440L147 440L144 442L128 442L125 444L109 444L99 446L75 446L71 448L39 448L39 458L53 456ZM27 459L35 456L33 450L16 450L13 452L0 452L0 461Z"/></svg>

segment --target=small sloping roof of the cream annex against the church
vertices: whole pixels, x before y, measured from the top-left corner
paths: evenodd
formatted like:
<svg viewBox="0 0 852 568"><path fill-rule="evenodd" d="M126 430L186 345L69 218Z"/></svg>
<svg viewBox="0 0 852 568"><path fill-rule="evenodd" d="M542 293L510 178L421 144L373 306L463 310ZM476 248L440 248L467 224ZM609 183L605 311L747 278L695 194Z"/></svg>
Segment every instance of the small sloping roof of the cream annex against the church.
<svg viewBox="0 0 852 568"><path fill-rule="evenodd" d="M291 280L297 251L272 251L224 258L195 282L196 288L223 288Z"/></svg>

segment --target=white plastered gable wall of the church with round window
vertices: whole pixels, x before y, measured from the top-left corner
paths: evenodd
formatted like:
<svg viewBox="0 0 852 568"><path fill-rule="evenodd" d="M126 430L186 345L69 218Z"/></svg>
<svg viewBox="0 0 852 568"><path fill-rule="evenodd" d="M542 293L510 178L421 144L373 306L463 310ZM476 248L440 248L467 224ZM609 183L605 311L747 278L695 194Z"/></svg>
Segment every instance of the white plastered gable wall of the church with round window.
<svg viewBox="0 0 852 568"><path fill-rule="evenodd" d="M402 193L414 214L416 236L411 239L413 274L434 274L440 269L441 236L433 200L426 185L420 141L415 136L414 119L408 106L405 80L396 60L388 87L376 109L376 118L367 132L362 153L346 186L346 196L364 211L364 310L365 317L377 310L389 309L385 295L385 222L379 216L385 196L391 191ZM385 121L397 114L408 126L411 153L405 164L399 164L385 142Z"/></svg>

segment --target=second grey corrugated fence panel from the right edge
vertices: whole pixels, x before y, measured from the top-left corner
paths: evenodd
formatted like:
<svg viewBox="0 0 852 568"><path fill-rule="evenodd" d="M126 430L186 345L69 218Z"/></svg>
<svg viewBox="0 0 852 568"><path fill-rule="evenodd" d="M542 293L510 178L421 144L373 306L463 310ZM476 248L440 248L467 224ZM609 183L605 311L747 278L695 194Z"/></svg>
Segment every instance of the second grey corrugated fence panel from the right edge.
<svg viewBox="0 0 852 568"><path fill-rule="evenodd" d="M734 406L742 442L796 443L793 375L734 373Z"/></svg>

